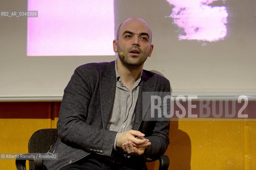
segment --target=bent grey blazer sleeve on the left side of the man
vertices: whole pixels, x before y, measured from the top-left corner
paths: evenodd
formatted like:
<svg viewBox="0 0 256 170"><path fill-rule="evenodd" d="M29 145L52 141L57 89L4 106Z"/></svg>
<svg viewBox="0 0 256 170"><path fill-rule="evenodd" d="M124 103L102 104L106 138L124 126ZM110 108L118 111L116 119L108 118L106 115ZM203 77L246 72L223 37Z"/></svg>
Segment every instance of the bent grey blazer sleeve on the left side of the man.
<svg viewBox="0 0 256 170"><path fill-rule="evenodd" d="M93 78L95 75L89 75L90 72L78 67L72 75L64 90L57 131L61 141L69 146L87 152L97 150L96 154L111 156L117 132L103 129L100 125L91 125L87 121L88 107L98 82L96 79L100 77L98 73ZM102 123L101 114L95 111L97 117L94 123Z"/></svg>

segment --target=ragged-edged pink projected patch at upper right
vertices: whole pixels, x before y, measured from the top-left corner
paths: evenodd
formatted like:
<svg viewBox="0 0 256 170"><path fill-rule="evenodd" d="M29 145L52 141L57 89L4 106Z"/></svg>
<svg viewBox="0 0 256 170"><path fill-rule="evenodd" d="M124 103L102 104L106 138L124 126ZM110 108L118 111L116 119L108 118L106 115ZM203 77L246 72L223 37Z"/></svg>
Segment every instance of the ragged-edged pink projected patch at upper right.
<svg viewBox="0 0 256 170"><path fill-rule="evenodd" d="M227 35L225 6L211 5L225 0L167 0L174 5L171 18L180 28L180 40L218 41Z"/></svg>

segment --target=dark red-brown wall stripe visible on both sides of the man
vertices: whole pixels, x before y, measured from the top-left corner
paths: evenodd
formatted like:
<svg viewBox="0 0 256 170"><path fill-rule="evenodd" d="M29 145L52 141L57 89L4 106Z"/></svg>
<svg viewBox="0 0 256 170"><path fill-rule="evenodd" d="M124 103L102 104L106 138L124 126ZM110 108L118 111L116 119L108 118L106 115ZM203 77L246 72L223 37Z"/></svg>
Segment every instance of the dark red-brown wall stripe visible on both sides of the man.
<svg viewBox="0 0 256 170"><path fill-rule="evenodd" d="M178 102L179 105L176 103ZM242 103L238 103L235 101L233 104L231 101L228 102L228 105L225 105L224 101L221 101L222 105L220 105L219 101L216 101L216 104L213 106L212 101L209 103L209 108L207 111L207 108L203 106L205 103L200 103L199 101L192 101L193 108L189 106L188 102L185 101L175 101L174 102L174 108L172 111L174 111L174 114L171 116L171 118L177 118L178 114L184 113L184 117L188 117L188 112L191 111L192 114L196 114L197 117L201 118L216 118L216 116L213 115L213 110L218 113L218 115L221 113L221 116L218 118L238 118L239 112L242 111L242 116L244 114L247 114L249 119L256 120L256 101L249 101L246 105L244 101ZM235 107L233 107L235 105ZM55 117L59 117L60 112L60 106L61 102L0 102L0 118L51 118L54 120ZM200 109L200 107L202 107ZM215 108L215 109L213 109ZM226 116L227 114L232 113L234 110L235 115L230 117ZM178 112L178 114L177 114ZM210 112L208 116L204 116L207 114L207 112ZM201 116L201 114L204 114ZM243 120L241 117L238 118L238 120Z"/></svg>

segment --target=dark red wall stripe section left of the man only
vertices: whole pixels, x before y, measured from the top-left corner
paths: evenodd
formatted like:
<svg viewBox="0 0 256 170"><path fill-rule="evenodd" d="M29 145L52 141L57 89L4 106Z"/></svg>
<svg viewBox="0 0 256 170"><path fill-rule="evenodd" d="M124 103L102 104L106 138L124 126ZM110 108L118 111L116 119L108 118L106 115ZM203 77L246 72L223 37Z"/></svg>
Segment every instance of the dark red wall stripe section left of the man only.
<svg viewBox="0 0 256 170"><path fill-rule="evenodd" d="M0 118L59 117L61 102L0 102Z"/></svg>

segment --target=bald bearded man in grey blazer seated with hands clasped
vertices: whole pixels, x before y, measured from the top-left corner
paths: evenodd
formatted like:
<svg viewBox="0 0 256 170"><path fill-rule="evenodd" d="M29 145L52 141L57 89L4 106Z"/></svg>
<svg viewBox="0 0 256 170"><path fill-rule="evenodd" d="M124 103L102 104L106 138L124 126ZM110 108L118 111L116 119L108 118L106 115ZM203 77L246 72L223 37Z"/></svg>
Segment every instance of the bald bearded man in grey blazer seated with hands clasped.
<svg viewBox="0 0 256 170"><path fill-rule="evenodd" d="M143 70L152 32L141 18L123 22L113 41L116 61L79 66L64 90L59 139L48 169L146 169L144 158L162 155L168 121L143 121L142 92L170 91L169 81Z"/></svg>

